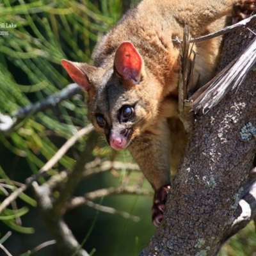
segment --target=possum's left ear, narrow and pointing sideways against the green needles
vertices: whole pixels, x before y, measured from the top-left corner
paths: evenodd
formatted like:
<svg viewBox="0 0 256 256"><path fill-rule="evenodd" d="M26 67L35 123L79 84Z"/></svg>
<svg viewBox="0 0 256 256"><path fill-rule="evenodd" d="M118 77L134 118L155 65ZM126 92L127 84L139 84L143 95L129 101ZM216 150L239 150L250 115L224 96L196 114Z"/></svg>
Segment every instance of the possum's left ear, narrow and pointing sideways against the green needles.
<svg viewBox="0 0 256 256"><path fill-rule="evenodd" d="M61 65L65 68L65 70L67 70L69 76L76 84L78 84L83 90L90 90L92 86L90 85L88 77L84 71L86 72L86 68L93 68L92 66L86 63L72 62L68 60L61 60Z"/></svg>

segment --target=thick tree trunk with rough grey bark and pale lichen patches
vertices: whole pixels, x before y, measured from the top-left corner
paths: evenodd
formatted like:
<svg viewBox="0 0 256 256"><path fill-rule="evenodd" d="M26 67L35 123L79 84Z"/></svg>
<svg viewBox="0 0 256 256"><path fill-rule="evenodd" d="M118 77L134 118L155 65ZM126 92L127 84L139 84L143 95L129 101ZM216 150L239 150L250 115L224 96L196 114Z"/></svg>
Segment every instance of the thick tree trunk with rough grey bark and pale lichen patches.
<svg viewBox="0 0 256 256"><path fill-rule="evenodd" d="M246 28L228 35L220 67L254 36ZM255 85L252 71L237 92L196 117L161 227L141 256L217 255L221 244L255 216L255 182L246 184L256 151Z"/></svg>

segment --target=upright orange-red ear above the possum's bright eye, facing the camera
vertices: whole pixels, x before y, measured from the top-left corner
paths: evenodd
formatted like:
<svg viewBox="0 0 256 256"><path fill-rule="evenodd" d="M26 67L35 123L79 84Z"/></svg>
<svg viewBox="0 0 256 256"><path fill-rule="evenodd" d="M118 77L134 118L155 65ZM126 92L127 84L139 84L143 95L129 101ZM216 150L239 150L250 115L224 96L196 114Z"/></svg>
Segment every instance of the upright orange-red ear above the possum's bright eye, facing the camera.
<svg viewBox="0 0 256 256"><path fill-rule="evenodd" d="M123 42L119 45L115 54L114 65L116 71L125 80L134 84L140 83L143 71L143 59L131 42Z"/></svg>

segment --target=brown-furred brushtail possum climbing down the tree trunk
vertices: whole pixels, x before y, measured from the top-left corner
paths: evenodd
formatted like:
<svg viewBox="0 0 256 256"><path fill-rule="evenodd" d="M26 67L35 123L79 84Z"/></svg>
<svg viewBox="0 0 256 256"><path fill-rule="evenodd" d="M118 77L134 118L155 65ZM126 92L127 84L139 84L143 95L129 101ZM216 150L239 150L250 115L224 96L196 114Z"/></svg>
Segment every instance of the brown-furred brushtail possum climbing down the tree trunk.
<svg viewBox="0 0 256 256"><path fill-rule="evenodd" d="M179 45L188 24L191 38L218 31L227 16L236 22L255 10L256 0L143 0L99 42L94 64L62 60L88 93L90 120L109 145L128 148L155 191L152 220L163 218L170 169L177 169L187 143L179 120ZM196 52L193 84L216 73L221 38L191 45Z"/></svg>

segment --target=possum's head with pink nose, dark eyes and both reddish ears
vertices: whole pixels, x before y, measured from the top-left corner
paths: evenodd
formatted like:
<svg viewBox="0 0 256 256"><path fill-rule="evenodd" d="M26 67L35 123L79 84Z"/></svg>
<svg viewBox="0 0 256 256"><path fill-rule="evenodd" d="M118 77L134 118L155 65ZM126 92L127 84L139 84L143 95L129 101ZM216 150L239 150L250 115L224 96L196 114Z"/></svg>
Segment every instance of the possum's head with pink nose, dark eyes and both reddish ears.
<svg viewBox="0 0 256 256"><path fill-rule="evenodd" d="M88 112L95 129L115 149L128 147L156 119L161 90L131 42L123 42L111 68L62 60L75 83L88 92Z"/></svg>

